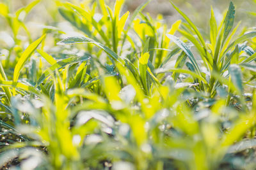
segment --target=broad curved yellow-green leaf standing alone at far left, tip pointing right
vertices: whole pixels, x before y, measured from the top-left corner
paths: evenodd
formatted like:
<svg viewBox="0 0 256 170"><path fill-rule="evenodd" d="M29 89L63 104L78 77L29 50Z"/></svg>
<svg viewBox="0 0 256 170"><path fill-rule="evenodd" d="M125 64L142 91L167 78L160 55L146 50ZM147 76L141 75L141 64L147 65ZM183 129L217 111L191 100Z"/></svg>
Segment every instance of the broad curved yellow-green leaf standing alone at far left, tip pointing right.
<svg viewBox="0 0 256 170"><path fill-rule="evenodd" d="M29 59L30 55L35 51L37 46L40 45L40 43L43 41L45 36L46 36L46 34L44 34L42 37L36 39L36 41L31 43L31 45L29 45L28 48L26 48L26 50L22 53L20 59L18 60L16 66L15 66L15 69L14 69L13 81L18 81L19 75L20 75L20 70L24 66L25 62Z"/></svg>

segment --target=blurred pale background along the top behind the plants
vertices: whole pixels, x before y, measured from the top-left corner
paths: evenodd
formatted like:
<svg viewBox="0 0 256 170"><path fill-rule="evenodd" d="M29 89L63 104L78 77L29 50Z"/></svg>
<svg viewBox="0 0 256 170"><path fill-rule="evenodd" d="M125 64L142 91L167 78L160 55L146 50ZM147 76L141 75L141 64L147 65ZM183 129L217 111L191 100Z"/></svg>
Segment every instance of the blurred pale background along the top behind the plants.
<svg viewBox="0 0 256 170"><path fill-rule="evenodd" d="M10 9L13 12L17 11L19 8L26 6L33 0L0 0L0 3L8 3L12 7ZM59 0L61 1L61 0ZM70 0L68 2L74 4L90 4L97 0ZM105 0L108 4L114 4L114 0ZM124 11L134 11L141 3L146 0L126 0ZM223 13L227 10L229 0L172 0L179 8L188 15L189 18L195 23L200 29L209 31L209 18L211 6L214 9L214 13L217 18L217 22L220 22ZM236 6L236 18L235 22L239 22L244 27L254 27L256 19L256 0L233 0ZM180 19L180 15L172 8L172 5L168 0L152 0L147 8L143 10L144 13L150 13L153 18L158 14L163 15L164 22L170 26L172 23ZM26 17L25 23L31 32L33 39L40 35L40 30L42 30L42 25L60 25L60 22L65 20L61 17L56 8L56 1L52 0L42 0L40 4L36 4L35 8ZM240 27L243 29L243 27ZM10 27L6 26L6 20L0 17L0 32L6 32ZM38 32L39 31L39 32ZM3 33L1 33L3 34ZM1 35L0 34L0 35ZM22 32L19 34L22 35ZM1 38L0 38L1 39ZM1 40L0 40L1 41Z"/></svg>

